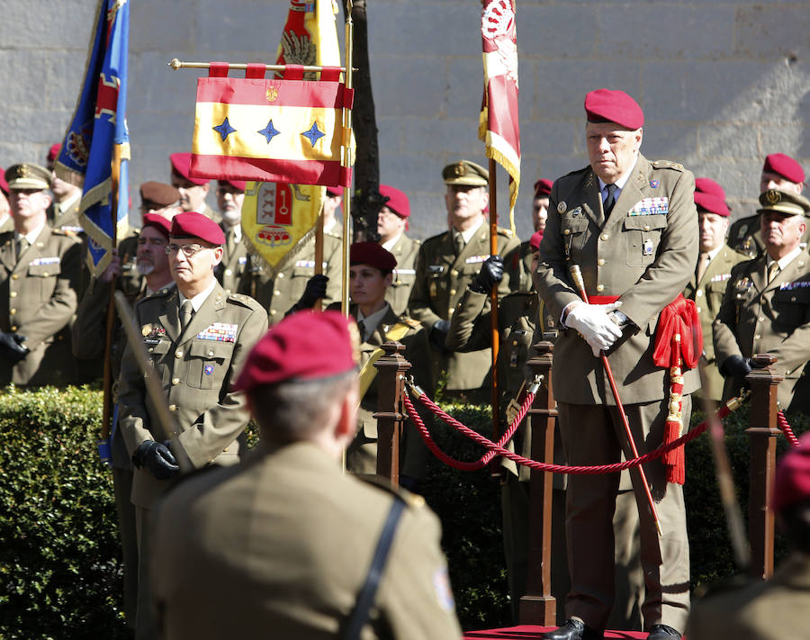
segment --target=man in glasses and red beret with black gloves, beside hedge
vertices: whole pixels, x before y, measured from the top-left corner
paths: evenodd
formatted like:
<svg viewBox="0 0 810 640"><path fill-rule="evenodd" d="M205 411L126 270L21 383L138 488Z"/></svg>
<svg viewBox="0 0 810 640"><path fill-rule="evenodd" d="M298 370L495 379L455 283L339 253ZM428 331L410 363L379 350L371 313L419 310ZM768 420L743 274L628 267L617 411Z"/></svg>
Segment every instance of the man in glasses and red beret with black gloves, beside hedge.
<svg viewBox="0 0 810 640"><path fill-rule="evenodd" d="M179 473L177 457L189 466L238 462L249 419L245 398L230 391L236 372L267 329L267 315L245 295L225 293L214 276L224 234L198 212L172 220L166 252L176 286L135 305L135 315L157 378L166 392L174 424L159 425L131 345L121 363L120 427L135 464L132 502L139 546L136 637L154 637L146 577L149 511Z"/></svg>

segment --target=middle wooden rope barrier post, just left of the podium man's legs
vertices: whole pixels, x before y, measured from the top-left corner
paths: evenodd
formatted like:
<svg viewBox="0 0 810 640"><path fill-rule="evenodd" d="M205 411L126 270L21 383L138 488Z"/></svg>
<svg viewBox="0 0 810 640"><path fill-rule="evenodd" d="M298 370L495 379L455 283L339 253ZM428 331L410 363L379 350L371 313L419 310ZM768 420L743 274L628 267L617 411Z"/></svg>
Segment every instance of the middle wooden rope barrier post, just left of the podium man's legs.
<svg viewBox="0 0 810 640"><path fill-rule="evenodd" d="M554 462L554 422L557 410L552 392L554 345L538 342L528 361L533 376L542 377L527 419L532 433L532 459ZM555 626L557 601L551 594L553 473L532 470L529 480L529 530L526 595L520 599L521 625ZM558 558L556 562L564 562Z"/></svg>

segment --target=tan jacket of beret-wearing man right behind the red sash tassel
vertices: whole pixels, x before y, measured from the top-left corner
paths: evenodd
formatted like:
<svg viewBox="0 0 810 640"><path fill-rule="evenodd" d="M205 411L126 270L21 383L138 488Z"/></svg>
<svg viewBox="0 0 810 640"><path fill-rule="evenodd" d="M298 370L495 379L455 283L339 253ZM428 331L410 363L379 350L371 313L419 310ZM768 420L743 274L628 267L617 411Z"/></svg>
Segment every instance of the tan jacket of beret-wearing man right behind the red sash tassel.
<svg viewBox="0 0 810 640"><path fill-rule="evenodd" d="M725 286L731 278L731 269L734 265L743 262L745 256L734 251L728 245L723 245L720 252L712 259L706 268L706 273L697 282L697 273L692 275L689 284L683 290L683 297L694 300L698 307L700 328L703 330L703 364L706 365L708 386L705 390L698 390L698 395L706 392L706 397L719 402L723 398L723 376L715 360L715 343L712 340L712 324L720 311L723 302Z"/></svg>

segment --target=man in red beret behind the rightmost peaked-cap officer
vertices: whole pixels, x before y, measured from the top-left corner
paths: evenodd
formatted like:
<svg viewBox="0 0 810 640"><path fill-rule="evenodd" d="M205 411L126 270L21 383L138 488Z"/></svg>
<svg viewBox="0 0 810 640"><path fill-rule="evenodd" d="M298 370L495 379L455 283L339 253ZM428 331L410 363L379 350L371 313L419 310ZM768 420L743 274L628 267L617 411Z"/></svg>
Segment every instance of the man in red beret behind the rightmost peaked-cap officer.
<svg viewBox="0 0 810 640"><path fill-rule="evenodd" d="M765 158L760 176L760 193L770 189L801 194L805 189L805 170L790 156L784 153L771 153ZM804 246L810 239L810 229L802 237ZM759 257L765 250L760 232L760 216L754 214L734 222L728 231L728 244L735 251L748 257Z"/></svg>

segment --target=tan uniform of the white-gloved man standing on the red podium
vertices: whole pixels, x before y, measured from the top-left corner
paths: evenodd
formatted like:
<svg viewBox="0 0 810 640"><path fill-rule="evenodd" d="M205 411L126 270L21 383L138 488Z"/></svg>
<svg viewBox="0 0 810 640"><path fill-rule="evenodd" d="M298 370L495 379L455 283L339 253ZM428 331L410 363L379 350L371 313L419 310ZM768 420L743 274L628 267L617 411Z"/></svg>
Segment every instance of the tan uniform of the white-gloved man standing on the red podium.
<svg viewBox="0 0 810 640"><path fill-rule="evenodd" d="M653 341L663 307L683 291L698 258L695 180L667 161L639 155L613 212L605 219L599 180L590 167L554 183L540 245L535 283L546 308L561 318L567 304L580 301L569 266L581 266L589 296L619 296L631 320L608 360L625 404L639 453L662 442L667 415L669 371L653 364ZM554 395L570 464L609 464L628 445L604 369L576 331L564 329L554 346ZM684 375L684 421L696 372ZM688 424L685 428L689 428ZM662 464L646 464L647 479L661 518L656 533L644 489L633 474L640 507L641 558L646 575L642 608L647 627L683 629L689 611L689 540L683 491L668 484ZM604 629L613 605L612 517L619 477L572 475L568 479L567 535L572 591L566 617L580 617ZM660 560L659 560L660 559Z"/></svg>

